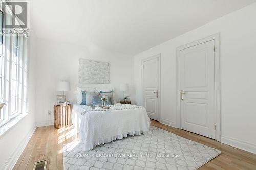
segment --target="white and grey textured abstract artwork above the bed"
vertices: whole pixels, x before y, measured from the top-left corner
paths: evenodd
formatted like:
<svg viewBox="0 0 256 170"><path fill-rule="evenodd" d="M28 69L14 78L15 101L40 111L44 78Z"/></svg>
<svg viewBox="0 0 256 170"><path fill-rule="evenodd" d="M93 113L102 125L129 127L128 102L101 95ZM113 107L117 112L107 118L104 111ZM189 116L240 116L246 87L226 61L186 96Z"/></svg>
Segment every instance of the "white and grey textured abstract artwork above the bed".
<svg viewBox="0 0 256 170"><path fill-rule="evenodd" d="M110 63L79 59L79 83L110 83Z"/></svg>

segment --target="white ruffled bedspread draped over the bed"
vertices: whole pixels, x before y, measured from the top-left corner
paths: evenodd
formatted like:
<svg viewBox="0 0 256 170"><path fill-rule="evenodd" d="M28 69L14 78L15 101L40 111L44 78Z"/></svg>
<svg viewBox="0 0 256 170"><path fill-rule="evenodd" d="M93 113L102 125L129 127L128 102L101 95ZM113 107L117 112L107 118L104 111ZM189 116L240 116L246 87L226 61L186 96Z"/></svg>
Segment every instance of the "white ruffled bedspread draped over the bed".
<svg viewBox="0 0 256 170"><path fill-rule="evenodd" d="M135 105L114 105L110 110L91 111L90 107L75 106L75 113L80 113L81 124L79 139L84 143L84 150L97 145L122 139L127 135L147 134L150 118L144 107Z"/></svg>

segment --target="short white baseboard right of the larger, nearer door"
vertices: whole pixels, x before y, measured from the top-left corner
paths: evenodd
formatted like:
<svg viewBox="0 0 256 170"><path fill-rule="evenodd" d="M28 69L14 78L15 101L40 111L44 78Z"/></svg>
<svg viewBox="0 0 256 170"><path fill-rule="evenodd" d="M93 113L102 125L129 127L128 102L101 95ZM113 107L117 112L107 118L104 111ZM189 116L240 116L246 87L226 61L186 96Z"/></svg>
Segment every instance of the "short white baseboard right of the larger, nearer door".
<svg viewBox="0 0 256 170"><path fill-rule="evenodd" d="M245 151L251 152L253 154L256 154L256 145L252 144L252 143L233 139L233 138L227 137L227 136L221 136L221 143L228 144L232 147L236 147L241 150L245 150Z"/></svg>

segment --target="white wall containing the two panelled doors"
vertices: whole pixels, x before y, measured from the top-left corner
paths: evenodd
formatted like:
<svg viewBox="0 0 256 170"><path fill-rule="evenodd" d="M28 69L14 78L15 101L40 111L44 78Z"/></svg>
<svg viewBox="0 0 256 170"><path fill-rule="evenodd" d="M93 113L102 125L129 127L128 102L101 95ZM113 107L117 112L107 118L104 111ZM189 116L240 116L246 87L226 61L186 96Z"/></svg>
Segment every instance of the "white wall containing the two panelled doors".
<svg viewBox="0 0 256 170"><path fill-rule="evenodd" d="M134 57L136 104L142 104L141 60L161 53L161 122L176 126L176 48L220 32L221 140L256 153L256 3Z"/></svg>

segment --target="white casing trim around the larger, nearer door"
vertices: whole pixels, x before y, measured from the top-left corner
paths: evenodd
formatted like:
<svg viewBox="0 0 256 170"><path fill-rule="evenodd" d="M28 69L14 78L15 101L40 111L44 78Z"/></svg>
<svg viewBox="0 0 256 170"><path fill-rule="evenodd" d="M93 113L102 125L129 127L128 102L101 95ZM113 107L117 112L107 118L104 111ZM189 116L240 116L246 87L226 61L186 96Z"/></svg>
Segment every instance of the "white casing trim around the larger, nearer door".
<svg viewBox="0 0 256 170"><path fill-rule="evenodd" d="M186 48L202 44L208 41L214 40L215 53L214 53L214 107L215 107L215 140L221 141L221 116L220 116L220 33L216 33L214 35L208 36L206 38L200 39L198 41L194 41L188 43L186 45L182 45L177 48L176 51L176 100L177 100L177 109L176 109L176 127L180 129L180 51ZM212 49L214 50L214 49Z"/></svg>

